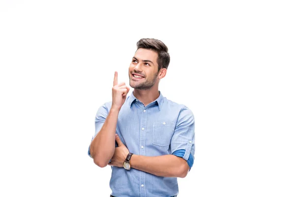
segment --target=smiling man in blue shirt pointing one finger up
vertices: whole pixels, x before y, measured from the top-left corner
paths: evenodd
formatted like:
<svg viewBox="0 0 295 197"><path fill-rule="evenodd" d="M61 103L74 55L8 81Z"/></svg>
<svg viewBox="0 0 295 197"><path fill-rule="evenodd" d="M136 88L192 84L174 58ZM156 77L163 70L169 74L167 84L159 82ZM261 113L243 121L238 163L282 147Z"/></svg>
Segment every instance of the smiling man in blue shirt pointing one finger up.
<svg viewBox="0 0 295 197"><path fill-rule="evenodd" d="M88 154L100 167L111 165L111 197L176 197L177 177L193 165L193 113L158 90L169 63L162 41L139 40L129 66L133 93L127 97L115 72L112 102L97 111Z"/></svg>

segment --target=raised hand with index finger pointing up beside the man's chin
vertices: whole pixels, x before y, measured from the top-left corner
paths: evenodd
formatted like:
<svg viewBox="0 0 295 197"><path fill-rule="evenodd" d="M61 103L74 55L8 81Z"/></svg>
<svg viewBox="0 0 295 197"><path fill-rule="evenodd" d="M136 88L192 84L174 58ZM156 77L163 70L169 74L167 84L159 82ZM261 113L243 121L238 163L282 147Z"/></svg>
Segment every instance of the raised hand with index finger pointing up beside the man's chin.
<svg viewBox="0 0 295 197"><path fill-rule="evenodd" d="M112 90L112 107L120 110L126 100L130 88L124 82L118 84L118 72L115 71L114 86Z"/></svg>

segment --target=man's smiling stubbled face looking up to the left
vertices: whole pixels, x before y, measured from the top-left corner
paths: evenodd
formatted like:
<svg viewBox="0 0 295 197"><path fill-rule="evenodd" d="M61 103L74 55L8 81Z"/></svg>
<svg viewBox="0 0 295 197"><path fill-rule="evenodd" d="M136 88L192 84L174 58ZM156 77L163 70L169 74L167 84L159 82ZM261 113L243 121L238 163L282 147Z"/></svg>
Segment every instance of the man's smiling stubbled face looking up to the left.
<svg viewBox="0 0 295 197"><path fill-rule="evenodd" d="M129 66L129 83L134 89L151 88L158 75L158 54L152 50L139 48Z"/></svg>

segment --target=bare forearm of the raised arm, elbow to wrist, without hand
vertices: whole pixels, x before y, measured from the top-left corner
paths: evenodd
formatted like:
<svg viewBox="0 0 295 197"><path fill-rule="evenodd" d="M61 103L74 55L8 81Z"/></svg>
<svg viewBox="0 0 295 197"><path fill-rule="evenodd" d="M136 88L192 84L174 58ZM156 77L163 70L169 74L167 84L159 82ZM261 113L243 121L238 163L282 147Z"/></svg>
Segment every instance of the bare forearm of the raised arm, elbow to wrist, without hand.
<svg viewBox="0 0 295 197"><path fill-rule="evenodd" d="M118 109L110 109L101 130L90 144L90 154L93 161L100 167L105 167L114 155L118 113Z"/></svg>

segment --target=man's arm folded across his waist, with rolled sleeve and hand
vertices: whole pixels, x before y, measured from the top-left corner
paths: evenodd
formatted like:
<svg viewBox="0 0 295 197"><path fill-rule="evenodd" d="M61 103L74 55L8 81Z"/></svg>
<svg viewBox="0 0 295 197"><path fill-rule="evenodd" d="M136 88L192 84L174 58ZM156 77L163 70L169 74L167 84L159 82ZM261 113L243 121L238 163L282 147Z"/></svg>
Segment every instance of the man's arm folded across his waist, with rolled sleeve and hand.
<svg viewBox="0 0 295 197"><path fill-rule="evenodd" d="M194 161L194 130L195 120L193 113L187 107L183 107L179 113L177 126L171 139L172 155L154 157L132 155L131 167L157 176L185 177ZM129 151L118 136L116 141L118 147L115 149L112 162L109 165L122 167Z"/></svg>

